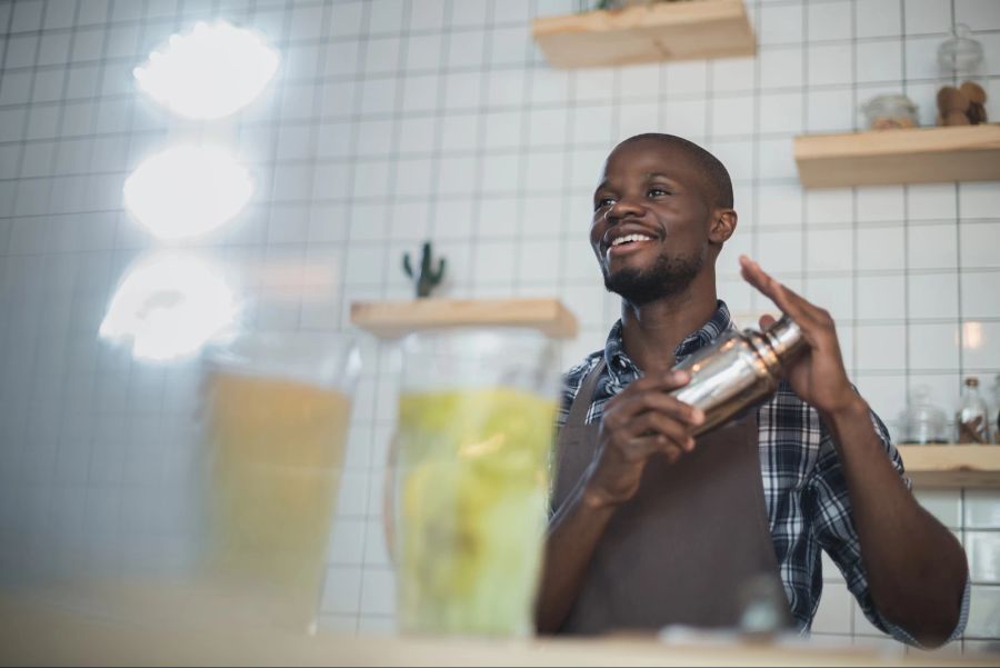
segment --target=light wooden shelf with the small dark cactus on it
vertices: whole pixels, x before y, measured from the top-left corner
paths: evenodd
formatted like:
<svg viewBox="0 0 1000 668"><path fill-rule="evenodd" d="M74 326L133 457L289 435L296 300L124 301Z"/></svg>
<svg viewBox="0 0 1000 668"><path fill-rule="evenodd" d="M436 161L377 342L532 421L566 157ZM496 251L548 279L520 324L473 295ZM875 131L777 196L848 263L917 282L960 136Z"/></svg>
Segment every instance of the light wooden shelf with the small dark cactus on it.
<svg viewBox="0 0 1000 668"><path fill-rule="evenodd" d="M351 322L380 338L460 326L530 327L550 337L577 335L577 318L558 299L417 299L351 305Z"/></svg>

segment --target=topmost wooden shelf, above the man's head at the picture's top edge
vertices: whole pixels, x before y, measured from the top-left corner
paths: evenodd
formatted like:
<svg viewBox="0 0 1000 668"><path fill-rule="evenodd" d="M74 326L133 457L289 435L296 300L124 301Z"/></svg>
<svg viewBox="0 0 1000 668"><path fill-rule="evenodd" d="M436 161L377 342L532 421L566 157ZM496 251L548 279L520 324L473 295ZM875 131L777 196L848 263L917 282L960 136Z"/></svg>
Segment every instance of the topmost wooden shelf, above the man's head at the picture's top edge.
<svg viewBox="0 0 1000 668"><path fill-rule="evenodd" d="M592 68L660 60L753 56L742 0L683 0L534 19L552 67Z"/></svg>

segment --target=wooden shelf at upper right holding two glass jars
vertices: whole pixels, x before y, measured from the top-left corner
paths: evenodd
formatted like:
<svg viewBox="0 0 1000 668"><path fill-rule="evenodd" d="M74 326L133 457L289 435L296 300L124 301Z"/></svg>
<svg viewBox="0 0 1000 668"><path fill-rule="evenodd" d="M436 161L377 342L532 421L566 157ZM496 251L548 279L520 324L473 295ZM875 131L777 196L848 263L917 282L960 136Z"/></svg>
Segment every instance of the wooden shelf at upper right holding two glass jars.
<svg viewBox="0 0 1000 668"><path fill-rule="evenodd" d="M1000 126L796 137L807 188L1000 180Z"/></svg>

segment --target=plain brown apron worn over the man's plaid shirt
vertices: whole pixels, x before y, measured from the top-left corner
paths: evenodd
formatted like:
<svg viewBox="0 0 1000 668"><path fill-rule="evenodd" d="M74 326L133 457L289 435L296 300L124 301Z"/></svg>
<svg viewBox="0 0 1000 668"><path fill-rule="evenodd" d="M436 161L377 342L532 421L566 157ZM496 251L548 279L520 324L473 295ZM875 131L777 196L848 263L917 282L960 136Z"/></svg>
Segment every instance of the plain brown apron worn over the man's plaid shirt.
<svg viewBox="0 0 1000 668"><path fill-rule="evenodd" d="M584 425L602 361L583 380L557 445L556 514L598 453ZM782 591L768 528L757 411L697 440L674 463L654 456L639 491L598 541L563 634L736 627L747 586ZM787 600L781 597L782 614Z"/></svg>

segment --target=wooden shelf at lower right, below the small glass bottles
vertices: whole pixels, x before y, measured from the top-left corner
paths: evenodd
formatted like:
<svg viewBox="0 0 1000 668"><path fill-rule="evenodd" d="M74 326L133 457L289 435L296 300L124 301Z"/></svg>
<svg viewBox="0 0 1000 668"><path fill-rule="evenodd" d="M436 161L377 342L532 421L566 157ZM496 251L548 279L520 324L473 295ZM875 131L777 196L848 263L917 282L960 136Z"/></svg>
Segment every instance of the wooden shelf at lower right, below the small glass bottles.
<svg viewBox="0 0 1000 668"><path fill-rule="evenodd" d="M1000 488L1000 446L901 445L907 476L918 488Z"/></svg>

